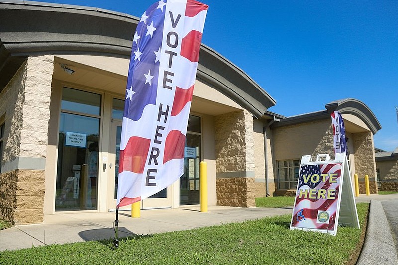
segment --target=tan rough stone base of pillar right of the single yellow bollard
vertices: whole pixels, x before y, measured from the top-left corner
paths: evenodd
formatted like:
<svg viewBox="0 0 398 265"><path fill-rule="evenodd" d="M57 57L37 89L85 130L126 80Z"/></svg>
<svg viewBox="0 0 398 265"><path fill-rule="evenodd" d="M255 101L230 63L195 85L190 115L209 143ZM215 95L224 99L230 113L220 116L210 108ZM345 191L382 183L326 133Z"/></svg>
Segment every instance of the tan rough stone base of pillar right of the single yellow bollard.
<svg viewBox="0 0 398 265"><path fill-rule="evenodd" d="M233 207L255 207L254 177L219 178L217 205Z"/></svg>

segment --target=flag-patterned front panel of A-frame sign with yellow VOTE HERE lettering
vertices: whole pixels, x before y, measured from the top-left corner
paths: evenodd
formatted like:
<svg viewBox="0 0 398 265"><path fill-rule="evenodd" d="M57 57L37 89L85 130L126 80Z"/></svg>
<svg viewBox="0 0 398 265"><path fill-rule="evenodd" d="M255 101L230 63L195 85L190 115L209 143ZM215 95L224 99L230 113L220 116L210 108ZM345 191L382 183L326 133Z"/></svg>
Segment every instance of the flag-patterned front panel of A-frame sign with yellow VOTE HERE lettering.
<svg viewBox="0 0 398 265"><path fill-rule="evenodd" d="M291 229L336 231L342 163L301 165Z"/></svg>

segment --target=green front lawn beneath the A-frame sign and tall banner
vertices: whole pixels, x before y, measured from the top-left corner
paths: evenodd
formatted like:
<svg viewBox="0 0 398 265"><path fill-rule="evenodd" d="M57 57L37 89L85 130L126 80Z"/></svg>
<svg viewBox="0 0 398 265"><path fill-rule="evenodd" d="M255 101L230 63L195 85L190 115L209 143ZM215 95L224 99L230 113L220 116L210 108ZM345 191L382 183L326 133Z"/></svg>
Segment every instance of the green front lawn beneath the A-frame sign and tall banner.
<svg viewBox="0 0 398 265"><path fill-rule="evenodd" d="M293 204L292 204L293 205ZM357 204L361 228L368 203ZM291 215L111 241L32 247L0 253L0 264L346 264L361 248L361 229L337 236L289 230Z"/></svg>

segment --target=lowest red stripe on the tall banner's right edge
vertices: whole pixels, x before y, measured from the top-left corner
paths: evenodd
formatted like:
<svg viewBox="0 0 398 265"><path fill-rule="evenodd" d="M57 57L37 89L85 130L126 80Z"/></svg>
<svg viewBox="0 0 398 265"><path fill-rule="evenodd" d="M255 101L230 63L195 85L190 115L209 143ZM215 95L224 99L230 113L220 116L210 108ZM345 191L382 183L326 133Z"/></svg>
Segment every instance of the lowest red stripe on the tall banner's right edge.
<svg viewBox="0 0 398 265"><path fill-rule="evenodd" d="M180 131L170 131L166 137L163 164L177 158L184 158L185 135Z"/></svg>

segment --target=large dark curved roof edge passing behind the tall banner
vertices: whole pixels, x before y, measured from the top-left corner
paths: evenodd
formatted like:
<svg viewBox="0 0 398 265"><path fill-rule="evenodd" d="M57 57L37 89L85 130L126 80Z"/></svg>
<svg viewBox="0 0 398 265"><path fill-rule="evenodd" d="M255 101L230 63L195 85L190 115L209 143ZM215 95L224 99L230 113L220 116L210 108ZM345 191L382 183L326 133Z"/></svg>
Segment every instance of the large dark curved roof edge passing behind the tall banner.
<svg viewBox="0 0 398 265"><path fill-rule="evenodd" d="M130 58L139 22L100 8L30 1L0 1L0 92L26 57L85 54ZM201 45L197 79L259 118L276 101L226 58Z"/></svg>

